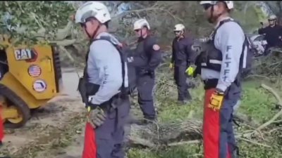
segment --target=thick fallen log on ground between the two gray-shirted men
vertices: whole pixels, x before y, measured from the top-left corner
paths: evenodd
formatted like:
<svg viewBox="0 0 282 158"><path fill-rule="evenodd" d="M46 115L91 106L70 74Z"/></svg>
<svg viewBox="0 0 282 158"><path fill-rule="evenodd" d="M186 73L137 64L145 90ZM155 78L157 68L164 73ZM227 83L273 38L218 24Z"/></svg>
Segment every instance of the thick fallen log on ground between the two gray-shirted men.
<svg viewBox="0 0 282 158"><path fill-rule="evenodd" d="M158 147L180 140L198 140L202 138L202 121L188 120L168 124L149 124L140 126L132 124L129 143L131 146Z"/></svg>

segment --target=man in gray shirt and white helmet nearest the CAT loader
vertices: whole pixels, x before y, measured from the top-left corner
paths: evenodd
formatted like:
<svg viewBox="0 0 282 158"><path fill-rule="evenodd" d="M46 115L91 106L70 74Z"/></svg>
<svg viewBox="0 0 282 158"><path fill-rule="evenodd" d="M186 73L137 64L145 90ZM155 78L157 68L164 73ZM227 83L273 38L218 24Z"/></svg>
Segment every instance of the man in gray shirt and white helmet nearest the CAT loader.
<svg viewBox="0 0 282 158"><path fill-rule="evenodd" d="M128 96L120 98L127 77L123 77L125 67L117 49L120 43L108 32L111 15L101 2L88 1L78 8L74 20L90 39L78 90L90 111L89 119L95 132L92 147L96 147L97 155L92 157L122 158L125 156L123 128L130 103Z"/></svg>

